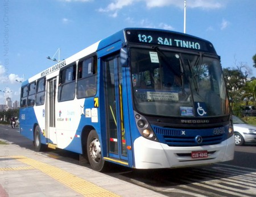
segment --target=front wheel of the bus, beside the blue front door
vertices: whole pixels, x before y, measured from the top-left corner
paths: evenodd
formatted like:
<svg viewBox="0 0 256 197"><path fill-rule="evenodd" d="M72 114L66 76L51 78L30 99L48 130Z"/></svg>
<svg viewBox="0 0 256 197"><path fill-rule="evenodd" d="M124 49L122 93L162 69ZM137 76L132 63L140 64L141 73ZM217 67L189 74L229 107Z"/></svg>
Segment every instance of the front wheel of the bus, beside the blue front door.
<svg viewBox="0 0 256 197"><path fill-rule="evenodd" d="M98 134L95 130L90 131L88 135L86 150L92 169L96 171L103 171L105 161L102 158L101 144Z"/></svg>

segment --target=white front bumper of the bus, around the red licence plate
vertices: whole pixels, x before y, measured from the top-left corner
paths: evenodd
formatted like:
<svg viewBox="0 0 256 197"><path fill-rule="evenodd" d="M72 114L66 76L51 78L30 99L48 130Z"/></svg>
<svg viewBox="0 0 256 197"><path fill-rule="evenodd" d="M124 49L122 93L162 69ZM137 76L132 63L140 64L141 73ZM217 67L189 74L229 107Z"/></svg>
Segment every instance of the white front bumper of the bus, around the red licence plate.
<svg viewBox="0 0 256 197"><path fill-rule="evenodd" d="M192 151L207 150L207 158L192 158ZM176 147L139 137L134 141L134 167L157 169L214 164L233 160L234 137L216 145Z"/></svg>

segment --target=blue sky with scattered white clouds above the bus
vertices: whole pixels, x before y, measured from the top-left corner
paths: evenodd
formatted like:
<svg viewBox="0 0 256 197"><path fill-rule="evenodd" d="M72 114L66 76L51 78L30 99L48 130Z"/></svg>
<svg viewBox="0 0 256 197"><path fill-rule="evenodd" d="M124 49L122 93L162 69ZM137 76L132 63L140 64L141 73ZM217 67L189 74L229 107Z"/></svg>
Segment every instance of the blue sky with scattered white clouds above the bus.
<svg viewBox="0 0 256 197"><path fill-rule="evenodd" d="M184 32L184 0L0 0L0 104L17 81L126 27ZM256 0L186 0L187 34L213 43L222 68L256 77ZM58 51L58 49L60 49ZM244 70L245 71L245 70Z"/></svg>

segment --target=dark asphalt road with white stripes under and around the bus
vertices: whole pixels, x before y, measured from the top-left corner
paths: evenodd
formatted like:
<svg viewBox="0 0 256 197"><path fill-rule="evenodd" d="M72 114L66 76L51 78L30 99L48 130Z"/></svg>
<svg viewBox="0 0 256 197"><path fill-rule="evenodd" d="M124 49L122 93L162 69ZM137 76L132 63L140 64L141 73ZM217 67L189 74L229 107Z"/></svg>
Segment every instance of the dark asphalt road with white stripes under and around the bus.
<svg viewBox="0 0 256 197"><path fill-rule="evenodd" d="M34 149L30 140L19 135L18 128L0 125L0 139ZM64 150L48 150L43 154L79 164L78 154ZM234 160L220 164L162 170L133 170L113 166L106 174L172 197L256 197L256 146L236 146Z"/></svg>

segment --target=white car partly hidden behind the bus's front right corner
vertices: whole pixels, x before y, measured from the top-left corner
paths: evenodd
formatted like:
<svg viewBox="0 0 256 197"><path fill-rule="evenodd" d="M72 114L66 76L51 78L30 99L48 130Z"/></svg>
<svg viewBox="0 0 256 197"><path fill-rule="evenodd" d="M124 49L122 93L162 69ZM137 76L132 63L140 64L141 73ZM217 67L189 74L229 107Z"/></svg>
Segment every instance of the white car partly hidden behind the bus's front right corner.
<svg viewBox="0 0 256 197"><path fill-rule="evenodd" d="M256 126L246 123L237 116L233 115L232 118L235 144L237 146L241 146L245 142L256 144Z"/></svg>

